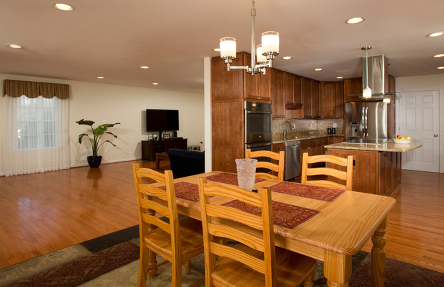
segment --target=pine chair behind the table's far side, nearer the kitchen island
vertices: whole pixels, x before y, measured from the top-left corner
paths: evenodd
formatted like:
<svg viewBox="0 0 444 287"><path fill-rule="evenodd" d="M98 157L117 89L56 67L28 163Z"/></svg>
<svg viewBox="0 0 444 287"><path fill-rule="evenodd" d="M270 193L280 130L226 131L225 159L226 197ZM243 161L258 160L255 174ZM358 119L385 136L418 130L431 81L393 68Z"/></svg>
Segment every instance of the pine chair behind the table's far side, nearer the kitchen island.
<svg viewBox="0 0 444 287"><path fill-rule="evenodd" d="M325 162L332 167L309 167L309 164ZM345 171L339 169L339 166L345 166ZM337 168L336 168L337 167ZM327 180L308 180L309 176L327 175ZM332 181L331 177L336 177ZM345 184L341 184L345 182ZM347 158L336 155L311 155L304 153L302 155L302 174L300 183L314 186L330 187L333 189L346 189L351 191L353 185L353 156Z"/></svg>

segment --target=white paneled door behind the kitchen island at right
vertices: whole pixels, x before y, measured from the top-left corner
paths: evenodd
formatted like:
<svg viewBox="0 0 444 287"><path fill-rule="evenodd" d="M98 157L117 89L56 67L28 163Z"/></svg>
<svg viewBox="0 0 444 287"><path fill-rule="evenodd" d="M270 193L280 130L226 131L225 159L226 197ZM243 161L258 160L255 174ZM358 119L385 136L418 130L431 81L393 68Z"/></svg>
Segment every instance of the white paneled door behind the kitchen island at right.
<svg viewBox="0 0 444 287"><path fill-rule="evenodd" d="M402 168L439 172L439 91L401 92L399 132L422 141L422 147L402 153Z"/></svg>

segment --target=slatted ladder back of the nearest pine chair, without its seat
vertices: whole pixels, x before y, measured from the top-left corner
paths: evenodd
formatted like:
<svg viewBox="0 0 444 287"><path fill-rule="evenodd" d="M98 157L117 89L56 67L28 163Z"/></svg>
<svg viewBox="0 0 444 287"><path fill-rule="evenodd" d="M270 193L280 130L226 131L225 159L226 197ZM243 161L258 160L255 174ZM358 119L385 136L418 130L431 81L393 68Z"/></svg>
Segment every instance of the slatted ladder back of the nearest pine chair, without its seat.
<svg viewBox="0 0 444 287"><path fill-rule="evenodd" d="M206 273L208 276L205 276L208 280L207 286L213 285L211 273L214 271L215 255L244 263L264 274L265 286L275 286L275 241L270 189L261 189L259 193L253 193L228 184L207 184L206 178L200 177L199 195L205 246L205 269L206 272L210 272ZM233 207L221 205L216 207L210 203L210 195L221 195L232 200L241 200L252 207L260 207L262 214L261 216L252 216L253 214L239 209L234 211ZM250 226L250 229L247 229L247 232L236 229L236 225L241 223ZM238 250L239 248L216 243L214 236L244 243L256 252L260 252L262 256L253 256L241 252Z"/></svg>

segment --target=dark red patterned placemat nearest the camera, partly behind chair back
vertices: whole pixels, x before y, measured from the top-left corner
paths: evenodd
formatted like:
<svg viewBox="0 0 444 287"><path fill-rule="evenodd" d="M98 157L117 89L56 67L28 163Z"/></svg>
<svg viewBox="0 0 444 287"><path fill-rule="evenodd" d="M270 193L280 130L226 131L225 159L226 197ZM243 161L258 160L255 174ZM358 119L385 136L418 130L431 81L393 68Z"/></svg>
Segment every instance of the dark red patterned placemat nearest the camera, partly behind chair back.
<svg viewBox="0 0 444 287"><path fill-rule="evenodd" d="M290 230L321 213L321 211L315 209L287 205L286 203L278 201L272 201L271 205L273 208L273 224ZM223 206L234 207L257 216L262 215L262 211L259 207L252 207L240 200L226 202Z"/></svg>

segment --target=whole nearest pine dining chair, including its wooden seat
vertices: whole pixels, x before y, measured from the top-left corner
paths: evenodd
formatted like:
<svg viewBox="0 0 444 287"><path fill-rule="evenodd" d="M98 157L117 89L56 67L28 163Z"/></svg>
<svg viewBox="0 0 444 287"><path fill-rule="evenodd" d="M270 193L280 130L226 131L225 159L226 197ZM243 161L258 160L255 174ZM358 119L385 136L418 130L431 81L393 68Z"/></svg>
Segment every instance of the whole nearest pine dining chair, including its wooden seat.
<svg viewBox="0 0 444 287"><path fill-rule="evenodd" d="M270 189L253 193L228 184L207 184L206 178L200 177L199 196L205 286L313 286L316 261L275 247ZM257 212L213 204L211 196L230 198ZM214 241L214 236L239 244L223 245Z"/></svg>

